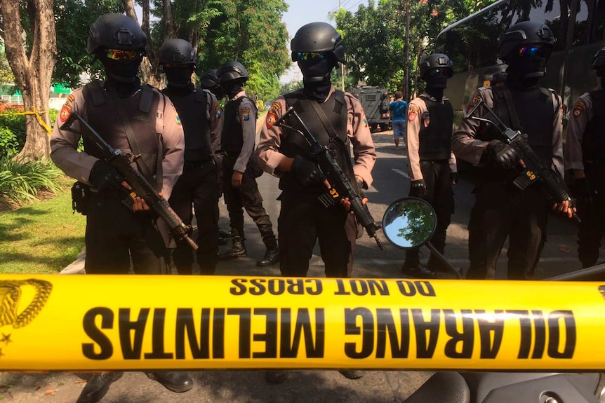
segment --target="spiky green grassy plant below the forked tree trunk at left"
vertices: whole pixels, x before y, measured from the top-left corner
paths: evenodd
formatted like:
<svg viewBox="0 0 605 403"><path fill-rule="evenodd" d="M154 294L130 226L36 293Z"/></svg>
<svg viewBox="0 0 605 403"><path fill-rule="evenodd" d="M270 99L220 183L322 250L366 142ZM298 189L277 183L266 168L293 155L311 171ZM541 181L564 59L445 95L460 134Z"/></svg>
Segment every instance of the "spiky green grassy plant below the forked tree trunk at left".
<svg viewBox="0 0 605 403"><path fill-rule="evenodd" d="M0 158L0 195L22 205L34 200L41 190L59 191L61 176L51 161L24 162L4 156Z"/></svg>

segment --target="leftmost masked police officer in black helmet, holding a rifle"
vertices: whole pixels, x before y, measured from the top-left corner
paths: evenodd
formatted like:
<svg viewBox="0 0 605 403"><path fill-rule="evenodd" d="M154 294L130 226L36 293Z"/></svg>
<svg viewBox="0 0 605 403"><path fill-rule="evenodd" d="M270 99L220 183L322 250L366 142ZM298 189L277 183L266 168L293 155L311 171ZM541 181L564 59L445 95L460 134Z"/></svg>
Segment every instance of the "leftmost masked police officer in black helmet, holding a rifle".
<svg viewBox="0 0 605 403"><path fill-rule="evenodd" d="M69 95L51 136L51 158L67 175L88 184L91 198L86 211L86 273L127 274L132 257L137 274L166 273L166 243L161 222L140 198L132 210L122 203L126 182L112 165L100 159L96 147L84 140L78 152L79 122L61 130L77 111L114 148L141 155L139 172L157 185L165 198L182 171L184 139L173 104L150 86L142 86L138 68L147 37L139 25L121 14L101 15L90 28L88 53L105 68L106 81L93 81ZM157 163L156 163L157 160ZM124 182L124 184L123 184ZM98 402L121 372L94 374L79 403ZM185 392L192 379L176 371L147 373L173 392Z"/></svg>

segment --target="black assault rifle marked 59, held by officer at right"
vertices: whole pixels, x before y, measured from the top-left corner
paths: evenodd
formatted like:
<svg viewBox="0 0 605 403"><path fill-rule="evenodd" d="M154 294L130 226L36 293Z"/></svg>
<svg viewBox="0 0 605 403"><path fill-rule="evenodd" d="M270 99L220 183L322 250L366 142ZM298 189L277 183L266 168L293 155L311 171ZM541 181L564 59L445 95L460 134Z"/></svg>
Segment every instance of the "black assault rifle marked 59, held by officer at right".
<svg viewBox="0 0 605 403"><path fill-rule="evenodd" d="M475 111L481 107L488 112L493 120L472 116ZM527 135L525 133L521 133L519 130L512 130L511 128L507 127L507 125L505 125L503 121L498 118L498 115L496 115L482 99L479 100L479 102L477 102L477 104L470 111L468 111L468 113L465 115L465 118L494 125L500 132L502 140L504 140L506 144L510 145L515 151L517 151L517 155L521 158L521 160L523 160L525 167L521 171L520 175L512 182L514 186L517 186L517 188L520 190L524 190L527 186L533 184L534 182L538 182L538 184L540 184L546 193L552 197L557 205L560 205L564 201L568 201L569 208L575 207L574 200L571 198L571 196L569 196L565 186L561 183L563 178L561 177L561 174L557 168L554 167L555 172L552 172L550 167L545 165L545 163L540 160L540 157L536 155L536 152L534 152L529 145ZM576 221L580 222L580 217L578 217L578 214L575 212L572 212L571 214Z"/></svg>

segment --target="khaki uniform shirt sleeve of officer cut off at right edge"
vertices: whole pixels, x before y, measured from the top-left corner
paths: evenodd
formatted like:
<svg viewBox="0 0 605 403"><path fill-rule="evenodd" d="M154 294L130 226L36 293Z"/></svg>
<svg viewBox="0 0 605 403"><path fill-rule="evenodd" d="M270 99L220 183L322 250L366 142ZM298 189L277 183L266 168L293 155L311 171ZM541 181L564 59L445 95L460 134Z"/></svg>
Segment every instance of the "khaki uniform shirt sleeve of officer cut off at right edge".
<svg viewBox="0 0 605 403"><path fill-rule="evenodd" d="M600 87L599 87L600 89ZM567 137L565 139L565 168L568 170L584 170L582 142L586 125L592 119L592 99L589 93L580 95L569 116Z"/></svg>

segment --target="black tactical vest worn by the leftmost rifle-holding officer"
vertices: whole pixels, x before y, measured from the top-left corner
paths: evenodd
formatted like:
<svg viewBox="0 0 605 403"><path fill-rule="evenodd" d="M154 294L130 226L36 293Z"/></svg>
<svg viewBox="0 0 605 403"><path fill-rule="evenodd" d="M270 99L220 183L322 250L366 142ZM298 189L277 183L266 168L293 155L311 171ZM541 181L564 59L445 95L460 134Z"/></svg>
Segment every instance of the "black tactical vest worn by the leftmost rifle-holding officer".
<svg viewBox="0 0 605 403"><path fill-rule="evenodd" d="M146 179L159 186L161 189L161 175L156 179L157 172L161 172L161 159L158 159L159 146L161 146L161 135L156 130L157 110L159 104L158 93L150 86L141 86L140 90L127 98L109 97L103 89L102 81L93 81L86 84L83 90L86 100L86 115L88 123L105 139L114 149L121 149L126 153L132 153L131 144L128 142L126 130L119 117L118 108L124 110L131 125L134 138L140 151L140 160L133 163L133 168L138 169L145 175L144 169L138 165L145 163L151 177L145 175ZM84 138L84 151L102 159L98 148ZM142 161L142 162L141 162Z"/></svg>

